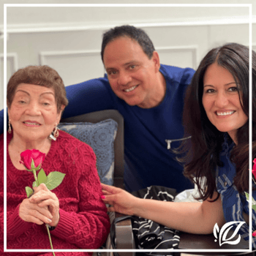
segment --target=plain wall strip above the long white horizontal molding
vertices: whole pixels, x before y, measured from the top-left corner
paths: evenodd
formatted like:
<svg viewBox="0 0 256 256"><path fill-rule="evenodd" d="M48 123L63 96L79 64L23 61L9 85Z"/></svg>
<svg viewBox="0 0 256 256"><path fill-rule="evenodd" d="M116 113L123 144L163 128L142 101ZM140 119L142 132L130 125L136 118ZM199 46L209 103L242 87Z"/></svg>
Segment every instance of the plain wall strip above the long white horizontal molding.
<svg viewBox="0 0 256 256"><path fill-rule="evenodd" d="M38 9L41 12L39 16ZM129 23L144 23L248 15L246 7L200 7L200 11L197 10L197 7L8 7L7 23L17 26L21 21L31 26L33 20L33 24L72 22L97 25L105 24L106 20L108 23L120 23L121 20L127 20Z"/></svg>

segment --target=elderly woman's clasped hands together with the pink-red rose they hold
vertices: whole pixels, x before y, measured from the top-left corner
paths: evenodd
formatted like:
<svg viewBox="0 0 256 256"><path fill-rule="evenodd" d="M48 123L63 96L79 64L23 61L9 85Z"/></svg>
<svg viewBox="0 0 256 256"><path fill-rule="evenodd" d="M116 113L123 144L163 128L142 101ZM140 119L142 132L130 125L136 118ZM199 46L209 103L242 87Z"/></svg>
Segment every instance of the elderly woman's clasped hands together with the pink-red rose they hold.
<svg viewBox="0 0 256 256"><path fill-rule="evenodd" d="M20 154L20 163L24 165L26 170L34 174L35 181L33 189L26 187L26 195L29 198L24 199L20 204L19 216L26 222L33 222L38 225L45 223L50 247L53 249L49 225L56 227L59 223L59 199L50 190L61 184L65 174L52 172L46 176L45 171L41 168L44 159L45 154L37 149L28 149ZM38 176L37 170L39 170ZM54 252L53 255L55 255Z"/></svg>

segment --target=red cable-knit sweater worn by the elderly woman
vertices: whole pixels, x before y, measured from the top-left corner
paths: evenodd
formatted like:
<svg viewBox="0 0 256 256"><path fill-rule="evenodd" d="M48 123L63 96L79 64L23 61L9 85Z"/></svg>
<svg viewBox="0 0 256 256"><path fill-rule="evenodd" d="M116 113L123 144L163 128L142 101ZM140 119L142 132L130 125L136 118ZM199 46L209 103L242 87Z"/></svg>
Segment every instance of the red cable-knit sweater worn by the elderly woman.
<svg viewBox="0 0 256 256"><path fill-rule="evenodd" d="M7 134L7 145L12 135ZM4 136L0 137L0 166L4 161ZM97 249L108 236L110 222L106 213L96 157L86 143L66 132L52 140L50 151L42 162L46 175L52 171L66 173L64 180L53 189L59 198L60 219L55 230L50 231L54 249ZM1 169L3 170L3 169ZM0 187L3 188L3 175ZM32 187L34 176L27 170L16 169L7 151L7 249L50 249L45 225L25 222L18 215L19 205L26 198L25 187ZM1 252L4 241L3 189L1 198ZM91 253L56 252L57 255L88 255ZM9 255L9 253L4 253ZM15 252L10 255L42 255L42 252ZM51 255L45 252L43 255Z"/></svg>

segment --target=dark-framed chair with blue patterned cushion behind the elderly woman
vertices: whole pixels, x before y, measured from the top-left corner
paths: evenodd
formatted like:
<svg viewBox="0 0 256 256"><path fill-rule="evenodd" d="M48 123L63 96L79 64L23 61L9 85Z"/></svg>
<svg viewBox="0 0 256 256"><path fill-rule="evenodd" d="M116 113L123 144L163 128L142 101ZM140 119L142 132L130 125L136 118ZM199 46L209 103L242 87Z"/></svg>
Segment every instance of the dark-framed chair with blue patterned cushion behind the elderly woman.
<svg viewBox="0 0 256 256"><path fill-rule="evenodd" d="M124 189L124 118L117 110L101 110L70 118L62 118L59 129L89 144L97 157L97 169L102 183ZM110 222L122 214L109 214ZM118 249L135 249L130 219L113 225L116 233L115 246ZM113 252L110 235L101 255L110 256ZM96 253L94 253L96 255ZM134 252L118 252L120 256L135 255Z"/></svg>

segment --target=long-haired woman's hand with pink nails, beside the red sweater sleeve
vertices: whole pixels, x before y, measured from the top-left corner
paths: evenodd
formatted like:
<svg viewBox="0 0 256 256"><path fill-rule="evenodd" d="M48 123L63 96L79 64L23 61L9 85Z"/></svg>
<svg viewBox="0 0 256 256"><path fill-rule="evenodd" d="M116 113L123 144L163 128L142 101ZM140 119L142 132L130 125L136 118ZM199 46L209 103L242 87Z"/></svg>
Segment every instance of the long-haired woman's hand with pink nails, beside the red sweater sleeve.
<svg viewBox="0 0 256 256"><path fill-rule="evenodd" d="M110 204L108 211L118 211L121 214L135 215L136 206L140 198L131 195L124 189L119 189L117 187L102 185L102 200L105 203Z"/></svg>

